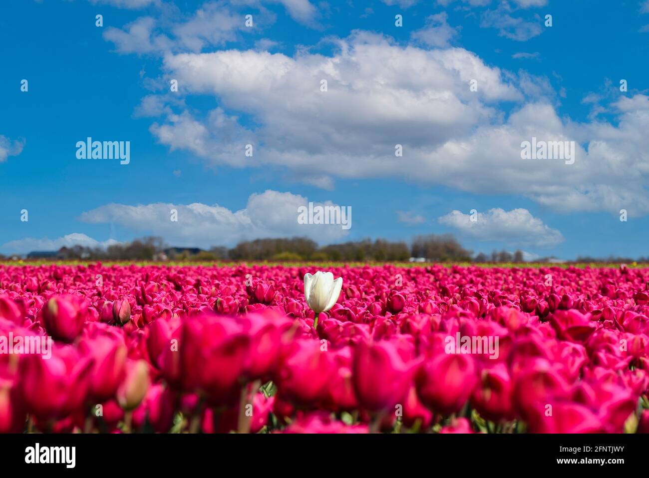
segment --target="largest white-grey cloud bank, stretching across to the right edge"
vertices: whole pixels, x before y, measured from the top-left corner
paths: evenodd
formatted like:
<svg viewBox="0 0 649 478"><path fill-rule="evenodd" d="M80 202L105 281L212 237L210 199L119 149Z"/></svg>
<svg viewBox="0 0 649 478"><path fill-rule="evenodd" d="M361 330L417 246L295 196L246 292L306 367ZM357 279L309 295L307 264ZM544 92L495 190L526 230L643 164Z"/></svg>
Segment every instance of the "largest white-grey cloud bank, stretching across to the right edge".
<svg viewBox="0 0 649 478"><path fill-rule="evenodd" d="M524 195L565 212L649 212L646 96L619 99L611 123L574 123L557 114L548 78L500 71L465 49L404 47L367 32L337 42L332 56L165 55L165 75L184 94L214 95L220 106L206 115L180 108L151 132L210 164L276 166L328 189L336 177L390 177ZM499 108L526 98L508 114ZM522 160L520 144L533 137L575 141L574 164ZM246 144L253 157L245 157ZM398 160L396 144L404 151Z"/></svg>

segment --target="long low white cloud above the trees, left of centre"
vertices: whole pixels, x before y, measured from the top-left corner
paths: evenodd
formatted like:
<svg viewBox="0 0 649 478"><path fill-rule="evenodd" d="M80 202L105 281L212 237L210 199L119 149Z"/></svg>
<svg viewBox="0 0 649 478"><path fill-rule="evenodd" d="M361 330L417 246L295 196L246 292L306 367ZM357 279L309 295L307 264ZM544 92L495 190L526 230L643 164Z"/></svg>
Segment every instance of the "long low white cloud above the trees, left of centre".
<svg viewBox="0 0 649 478"><path fill-rule="evenodd" d="M252 194L246 207L237 211L201 203L109 204L84 212L80 220L116 223L132 231L162 236L178 246L232 245L239 240L286 236L306 236L319 243L328 243L347 235L349 231L343 230L341 225L299 224L297 209L307 206L308 202L300 195L267 190ZM314 205L334 206L334 203L326 201ZM171 221L172 209L178 212L177 222Z"/></svg>

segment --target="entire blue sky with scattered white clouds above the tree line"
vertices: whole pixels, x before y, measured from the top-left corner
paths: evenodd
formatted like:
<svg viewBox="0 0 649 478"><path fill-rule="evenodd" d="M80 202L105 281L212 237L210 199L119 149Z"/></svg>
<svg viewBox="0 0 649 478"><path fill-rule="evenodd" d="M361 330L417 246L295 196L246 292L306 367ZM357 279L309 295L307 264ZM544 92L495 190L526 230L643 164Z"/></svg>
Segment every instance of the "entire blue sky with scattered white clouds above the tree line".
<svg viewBox="0 0 649 478"><path fill-rule="evenodd" d="M649 256L647 1L8 0L0 36L1 253L454 233ZM78 159L88 136L129 164ZM574 164L522 159L532 137ZM309 201L352 227L297 223Z"/></svg>

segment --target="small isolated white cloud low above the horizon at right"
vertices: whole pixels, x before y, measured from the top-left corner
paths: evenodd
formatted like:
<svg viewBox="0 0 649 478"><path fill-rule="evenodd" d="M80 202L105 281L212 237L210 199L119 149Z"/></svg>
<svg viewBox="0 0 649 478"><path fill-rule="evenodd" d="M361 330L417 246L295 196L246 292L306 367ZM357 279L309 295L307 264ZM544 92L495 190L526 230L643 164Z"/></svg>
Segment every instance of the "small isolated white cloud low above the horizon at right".
<svg viewBox="0 0 649 478"><path fill-rule="evenodd" d="M476 221L472 221L470 214L454 210L441 216L438 221L478 240L535 246L552 246L563 242L563 235L559 231L545 225L527 209L506 211L493 208L478 212L475 217Z"/></svg>

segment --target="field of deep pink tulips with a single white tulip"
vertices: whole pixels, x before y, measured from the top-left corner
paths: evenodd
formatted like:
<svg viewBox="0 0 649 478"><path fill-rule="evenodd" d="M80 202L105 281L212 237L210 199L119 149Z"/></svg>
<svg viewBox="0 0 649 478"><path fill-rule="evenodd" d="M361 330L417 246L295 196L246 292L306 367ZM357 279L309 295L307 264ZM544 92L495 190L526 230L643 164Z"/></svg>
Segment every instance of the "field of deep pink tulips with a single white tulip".
<svg viewBox="0 0 649 478"><path fill-rule="evenodd" d="M0 265L0 432L649 432L649 270L321 269Z"/></svg>

